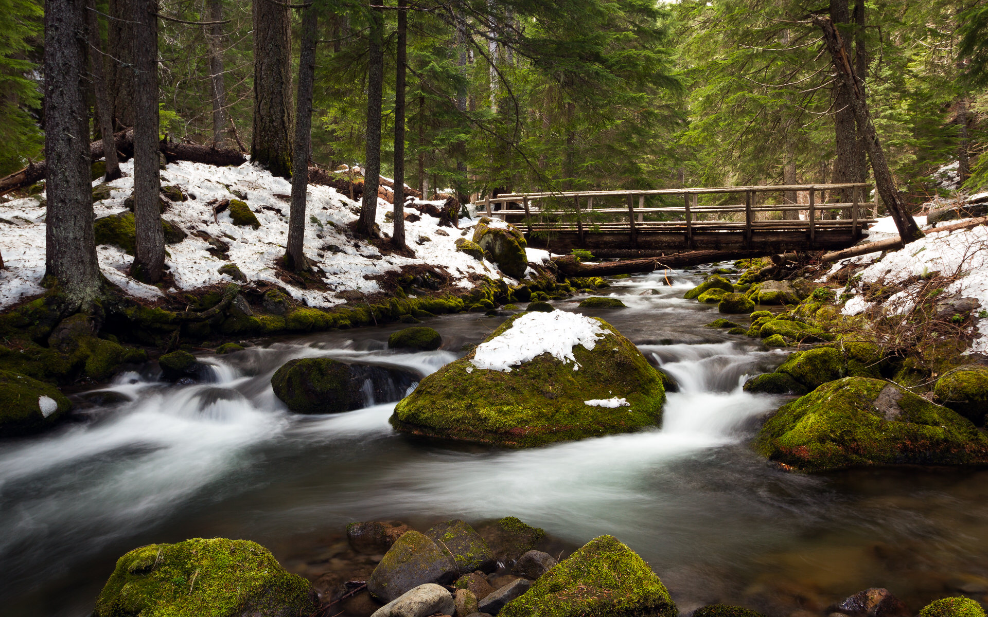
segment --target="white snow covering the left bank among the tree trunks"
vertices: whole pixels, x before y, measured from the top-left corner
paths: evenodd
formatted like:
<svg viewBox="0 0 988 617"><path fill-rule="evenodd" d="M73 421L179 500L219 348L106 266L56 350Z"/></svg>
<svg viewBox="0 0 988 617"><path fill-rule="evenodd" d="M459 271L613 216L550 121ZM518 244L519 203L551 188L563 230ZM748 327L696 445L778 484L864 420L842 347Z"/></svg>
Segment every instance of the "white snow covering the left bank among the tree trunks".
<svg viewBox="0 0 988 617"><path fill-rule="evenodd" d="M113 188L109 199L94 205L97 218L124 211L124 198L133 189L132 162L121 165L124 178L110 183ZM96 187L101 184L94 182ZM500 278L497 267L490 262L479 262L456 251L454 242L464 229L440 227L439 219L422 214L416 222L405 223L408 246L415 252L414 258L397 255L381 255L371 244L356 242L348 236L346 225L357 220L360 203L330 187L311 185L308 189L305 221L305 255L326 272L325 281L330 291L301 289L277 277L275 260L285 254L288 240L288 194L291 186L287 180L245 163L240 167L214 167L201 163L180 162L161 171L162 186L177 186L189 193L189 200L173 204L163 217L176 222L190 236L178 244L166 245L170 257L166 265L175 278L175 290L188 290L216 282L231 282L227 274L220 274L219 267L236 264L250 280L275 282L296 300L308 306L327 308L345 300L336 293L358 290L364 293L380 291L375 274L400 270L403 266L429 265L446 269L453 284L469 288L471 274L483 274ZM259 229L234 225L228 211L213 218L211 199L238 198L233 192L246 195L247 205L261 223ZM283 197L276 194L285 195ZM21 299L41 293L41 277L44 274L44 215L40 200L43 193L33 197L0 203L0 252L7 270L0 270L0 308L10 306ZM432 202L442 205L441 201ZM263 209L267 205L274 209ZM385 220L392 205L378 199L376 222L382 232L391 235L393 225ZM406 207L406 212L418 214ZM467 223L460 221L460 225ZM191 235L205 231L210 236L227 242L230 261L213 257L207 252L205 240ZM465 236L469 239L471 234ZM123 287L128 293L153 299L162 295L157 287L137 282L126 275L132 257L116 246L99 246L100 267L108 279Z"/></svg>

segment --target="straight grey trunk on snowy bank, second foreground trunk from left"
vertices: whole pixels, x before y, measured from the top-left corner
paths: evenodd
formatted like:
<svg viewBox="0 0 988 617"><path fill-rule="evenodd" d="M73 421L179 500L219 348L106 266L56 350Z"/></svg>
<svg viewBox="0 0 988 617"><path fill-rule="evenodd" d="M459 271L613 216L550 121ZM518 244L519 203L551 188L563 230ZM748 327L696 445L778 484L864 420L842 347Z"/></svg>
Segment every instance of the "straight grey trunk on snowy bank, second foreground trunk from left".
<svg viewBox="0 0 988 617"><path fill-rule="evenodd" d="M133 0L133 217L136 250L130 275L157 282L165 270L158 192L158 0Z"/></svg>

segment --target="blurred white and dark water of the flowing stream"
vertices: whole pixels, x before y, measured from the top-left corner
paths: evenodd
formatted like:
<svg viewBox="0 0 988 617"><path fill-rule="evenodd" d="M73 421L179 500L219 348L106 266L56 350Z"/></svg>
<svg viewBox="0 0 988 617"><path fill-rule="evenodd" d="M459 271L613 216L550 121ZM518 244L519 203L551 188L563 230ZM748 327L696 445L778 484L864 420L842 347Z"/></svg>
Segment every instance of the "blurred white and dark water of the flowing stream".
<svg viewBox="0 0 988 617"><path fill-rule="evenodd" d="M785 399L741 384L784 353L704 328L715 307L682 299L698 273L672 272L671 287L664 274L617 281L606 291L629 308L587 311L679 382L661 429L501 450L396 433L394 404L370 390L365 409L318 417L288 414L271 390L299 356L431 373L503 321L478 314L430 321L447 350L387 350L398 325L323 333L207 356L213 383L163 384L148 367L84 393L85 422L0 442L0 613L88 615L117 558L154 542L247 538L314 578L309 558L350 521L505 515L571 547L616 535L682 611L723 601L822 615L869 586L914 612L960 591L986 599L986 472L806 476L767 464L748 443ZM579 299L554 304L572 311Z"/></svg>

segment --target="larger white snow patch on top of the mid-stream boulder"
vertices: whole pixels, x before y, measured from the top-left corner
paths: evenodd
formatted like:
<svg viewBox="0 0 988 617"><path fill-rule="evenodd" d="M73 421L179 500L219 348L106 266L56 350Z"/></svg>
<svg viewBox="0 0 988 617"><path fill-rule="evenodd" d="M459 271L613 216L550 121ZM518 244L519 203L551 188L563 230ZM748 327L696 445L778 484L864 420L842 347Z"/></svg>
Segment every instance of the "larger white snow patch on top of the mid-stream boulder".
<svg viewBox="0 0 988 617"><path fill-rule="evenodd" d="M509 372L512 366L549 353L563 364L572 361L576 370L580 364L573 356L573 347L593 350L604 334L599 321L579 313L527 313L504 334L477 346L470 362L477 368Z"/></svg>

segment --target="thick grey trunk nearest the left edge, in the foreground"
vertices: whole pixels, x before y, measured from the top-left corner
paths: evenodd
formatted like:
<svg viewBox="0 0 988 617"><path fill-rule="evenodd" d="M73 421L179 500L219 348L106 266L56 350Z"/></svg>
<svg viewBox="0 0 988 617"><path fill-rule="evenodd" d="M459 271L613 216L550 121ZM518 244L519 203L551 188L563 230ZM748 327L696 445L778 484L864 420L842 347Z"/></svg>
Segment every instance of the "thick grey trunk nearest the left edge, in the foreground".
<svg viewBox="0 0 988 617"><path fill-rule="evenodd" d="M86 114L86 0L44 7L45 273L73 308L88 308L102 276L93 234Z"/></svg>

